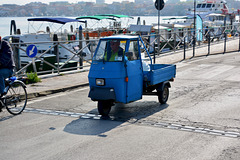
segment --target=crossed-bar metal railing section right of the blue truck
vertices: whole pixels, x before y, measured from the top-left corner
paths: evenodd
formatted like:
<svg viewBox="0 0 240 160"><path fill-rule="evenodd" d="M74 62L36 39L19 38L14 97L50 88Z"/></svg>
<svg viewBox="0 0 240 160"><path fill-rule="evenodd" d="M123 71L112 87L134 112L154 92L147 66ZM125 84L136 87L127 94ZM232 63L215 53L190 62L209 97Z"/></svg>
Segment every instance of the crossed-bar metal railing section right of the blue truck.
<svg viewBox="0 0 240 160"><path fill-rule="evenodd" d="M186 28L182 31L164 31L162 30L160 34L151 34L143 36L144 42L147 44L148 48L153 48L152 55L156 56L175 52L182 52L183 57L187 51L193 50L195 45L196 49L206 48L206 55L210 55L211 52L216 53L225 53L227 51L239 51L240 50L240 26L239 25L228 25L221 27L211 27L204 28L201 30L196 30L196 42L194 44L194 35L193 29ZM150 37L154 37L150 41ZM157 39L160 38L160 47L158 48ZM230 43L232 40L239 39L239 47L234 50L227 48L227 43ZM211 49L212 45L222 44L223 49L218 52L213 52ZM192 57L195 55L193 54ZM185 57L186 58L186 57ZM185 59L183 58L183 59Z"/></svg>

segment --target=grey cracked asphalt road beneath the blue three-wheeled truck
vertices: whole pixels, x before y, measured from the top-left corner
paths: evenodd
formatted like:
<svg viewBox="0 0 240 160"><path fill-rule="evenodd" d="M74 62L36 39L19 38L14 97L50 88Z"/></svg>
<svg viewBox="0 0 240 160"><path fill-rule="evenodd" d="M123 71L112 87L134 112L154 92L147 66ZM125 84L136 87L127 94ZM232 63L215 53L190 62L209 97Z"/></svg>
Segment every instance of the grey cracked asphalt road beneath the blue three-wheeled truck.
<svg viewBox="0 0 240 160"><path fill-rule="evenodd" d="M237 160L240 157L240 54L177 64L168 103L144 96L117 104L102 120L88 88L0 113L0 159Z"/></svg>

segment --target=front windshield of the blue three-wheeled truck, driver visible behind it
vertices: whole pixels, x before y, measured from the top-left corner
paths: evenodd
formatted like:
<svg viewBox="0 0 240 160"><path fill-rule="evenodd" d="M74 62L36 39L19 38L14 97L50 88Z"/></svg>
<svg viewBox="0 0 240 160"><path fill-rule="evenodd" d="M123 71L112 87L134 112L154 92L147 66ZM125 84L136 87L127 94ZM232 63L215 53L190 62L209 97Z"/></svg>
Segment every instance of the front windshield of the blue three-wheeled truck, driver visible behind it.
<svg viewBox="0 0 240 160"><path fill-rule="evenodd" d="M101 40L94 61L121 62L125 52L126 41Z"/></svg>

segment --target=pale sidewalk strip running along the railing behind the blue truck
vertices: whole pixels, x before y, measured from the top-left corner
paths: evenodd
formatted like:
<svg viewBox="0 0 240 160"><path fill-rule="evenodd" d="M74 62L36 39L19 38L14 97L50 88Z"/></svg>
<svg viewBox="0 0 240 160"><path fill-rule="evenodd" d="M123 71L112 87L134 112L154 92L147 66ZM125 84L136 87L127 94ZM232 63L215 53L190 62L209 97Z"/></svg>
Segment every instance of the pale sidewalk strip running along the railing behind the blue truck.
<svg viewBox="0 0 240 160"><path fill-rule="evenodd" d="M227 52L238 50L238 39L227 43ZM211 54L221 53L223 51L223 43L211 45ZM195 56L205 56L208 53L207 47L196 48ZM191 58L193 50L186 51L186 59ZM156 63L174 64L183 60L183 51L173 54L164 54L156 56ZM89 68L89 67L88 67ZM42 75L41 82L27 85L28 98L45 96L53 93L74 89L77 87L88 86L88 70L79 70L79 72L61 72L61 75L51 74Z"/></svg>

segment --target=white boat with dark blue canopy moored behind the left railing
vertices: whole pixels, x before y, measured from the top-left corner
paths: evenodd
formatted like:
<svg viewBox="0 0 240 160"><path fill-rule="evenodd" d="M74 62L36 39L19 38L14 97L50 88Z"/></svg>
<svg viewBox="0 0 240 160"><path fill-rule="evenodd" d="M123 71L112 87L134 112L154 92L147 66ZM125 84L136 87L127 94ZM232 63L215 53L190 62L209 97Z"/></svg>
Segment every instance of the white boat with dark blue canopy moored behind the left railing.
<svg viewBox="0 0 240 160"><path fill-rule="evenodd" d="M54 43L54 35L57 36L57 41L62 42L62 46L59 46L59 58L60 60L67 60L73 56L73 53L69 52L67 49L72 52L76 52L76 48L79 45L79 42L74 40L78 39L78 32L74 28L79 28L80 24L85 24L85 21L80 21L72 18L62 18L62 17L38 17L38 18L28 18L28 32L21 34L21 31L16 30L15 21L11 22L10 35L3 37L4 40L12 41L12 39L17 39L20 42L20 57L26 57L26 48L29 44L35 44L38 49L38 54L44 53ZM67 26L69 25L69 30ZM44 30L43 28L46 28ZM12 30L14 30L12 32ZM83 42L83 46L86 46L86 43ZM67 49L65 49L67 48ZM54 54L54 48L50 49L46 54ZM91 52L86 47L83 49L83 52L86 55L91 55ZM45 54L45 55L46 55ZM75 59L79 59L75 57Z"/></svg>

